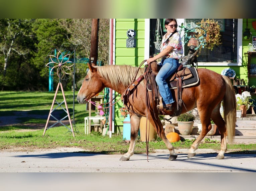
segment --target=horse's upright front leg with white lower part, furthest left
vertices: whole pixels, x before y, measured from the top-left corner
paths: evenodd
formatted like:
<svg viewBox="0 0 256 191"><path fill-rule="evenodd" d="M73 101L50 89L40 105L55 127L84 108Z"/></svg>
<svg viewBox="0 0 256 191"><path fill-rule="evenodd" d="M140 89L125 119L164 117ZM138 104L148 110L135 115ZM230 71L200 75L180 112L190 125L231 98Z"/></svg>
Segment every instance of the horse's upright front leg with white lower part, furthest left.
<svg viewBox="0 0 256 191"><path fill-rule="evenodd" d="M129 160L130 157L134 154L134 147L135 147L135 141L138 136L138 131L140 127L140 118L141 116L136 116L130 114L130 119L131 119L131 141L130 141L130 146L129 150L127 153L125 153L119 160L126 161Z"/></svg>

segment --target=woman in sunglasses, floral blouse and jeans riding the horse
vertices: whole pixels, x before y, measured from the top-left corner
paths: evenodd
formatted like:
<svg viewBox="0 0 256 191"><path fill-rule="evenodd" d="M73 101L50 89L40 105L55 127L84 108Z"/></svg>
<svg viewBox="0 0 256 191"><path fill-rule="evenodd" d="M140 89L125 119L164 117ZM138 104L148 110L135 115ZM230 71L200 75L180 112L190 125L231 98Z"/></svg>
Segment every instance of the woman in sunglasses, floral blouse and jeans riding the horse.
<svg viewBox="0 0 256 191"><path fill-rule="evenodd" d="M181 59L183 55L183 48L180 35L176 30L176 19L166 19L164 26L167 33L163 36L160 53L153 58L147 59L147 63L151 63L162 58L160 63L161 69L156 75L155 80L158 85L160 95L162 96L163 110L171 111L174 100L166 79L178 69L178 60ZM159 107L159 105L157 105L157 107Z"/></svg>

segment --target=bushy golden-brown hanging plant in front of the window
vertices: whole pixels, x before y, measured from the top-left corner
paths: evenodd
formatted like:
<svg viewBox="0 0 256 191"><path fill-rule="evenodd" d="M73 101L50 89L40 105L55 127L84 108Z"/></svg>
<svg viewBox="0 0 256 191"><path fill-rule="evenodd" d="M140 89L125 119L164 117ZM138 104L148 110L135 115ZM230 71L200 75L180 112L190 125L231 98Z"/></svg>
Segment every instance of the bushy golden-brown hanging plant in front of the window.
<svg viewBox="0 0 256 191"><path fill-rule="evenodd" d="M200 23L197 23L197 25L199 28L197 31L198 33L195 36L198 39L202 37L205 38L205 48L213 50L214 46L222 44L220 33L221 29L218 22L215 22L214 19L202 19Z"/></svg>

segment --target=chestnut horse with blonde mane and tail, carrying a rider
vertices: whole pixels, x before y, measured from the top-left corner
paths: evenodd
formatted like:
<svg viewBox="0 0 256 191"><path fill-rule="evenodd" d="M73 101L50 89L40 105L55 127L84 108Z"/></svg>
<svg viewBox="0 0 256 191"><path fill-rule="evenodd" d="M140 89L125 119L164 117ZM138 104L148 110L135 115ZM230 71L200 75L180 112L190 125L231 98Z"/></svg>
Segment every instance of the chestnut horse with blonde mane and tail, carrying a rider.
<svg viewBox="0 0 256 191"><path fill-rule="evenodd" d="M89 65L89 64L88 64ZM84 82L78 92L77 100L84 103L85 99L89 100L101 92L105 87L111 88L123 94L127 87L134 81L135 74L140 76L143 74L143 68L132 67L129 65L108 65L108 66L91 66L84 79ZM184 88L182 90L182 112L185 113L194 108L198 108L199 116L202 123L202 131L198 138L191 145L187 158L196 155L199 143L205 135L211 130L211 118L218 126L221 134L221 150L216 159L223 159L224 153L227 151L227 136L229 143L233 143L236 122L236 98L233 85L228 77L208 70L198 69L200 82L198 85ZM153 125L159 137L164 141L170 152L169 160L175 160L177 154L174 147L165 136L162 123L158 117L157 100L149 100L150 108L147 109L145 98L144 80L136 87L133 94L129 96L127 108L130 113L131 120L131 141L127 153L120 160L129 160L134 154L135 141L138 136L140 118L146 116ZM177 90L171 90L174 100L177 98ZM148 92L148 97L153 97ZM177 101L177 100L176 100ZM224 119L220 113L221 102L223 101ZM185 106L184 106L185 105ZM165 115L171 115L166 111Z"/></svg>

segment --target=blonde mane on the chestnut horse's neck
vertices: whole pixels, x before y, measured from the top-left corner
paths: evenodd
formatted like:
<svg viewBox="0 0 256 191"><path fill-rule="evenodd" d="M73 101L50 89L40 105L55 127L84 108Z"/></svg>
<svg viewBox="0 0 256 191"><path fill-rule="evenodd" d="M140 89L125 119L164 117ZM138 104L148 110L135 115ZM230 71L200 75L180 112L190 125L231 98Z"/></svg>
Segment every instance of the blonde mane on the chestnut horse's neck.
<svg viewBox="0 0 256 191"><path fill-rule="evenodd" d="M117 88L120 86L120 83L128 87L134 80L138 68L129 65L106 65L97 67L97 70L102 78ZM143 74L143 71L144 69L140 68L136 78ZM87 77L91 77L90 70L87 74Z"/></svg>

